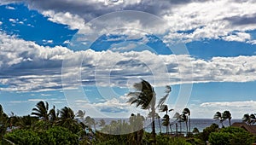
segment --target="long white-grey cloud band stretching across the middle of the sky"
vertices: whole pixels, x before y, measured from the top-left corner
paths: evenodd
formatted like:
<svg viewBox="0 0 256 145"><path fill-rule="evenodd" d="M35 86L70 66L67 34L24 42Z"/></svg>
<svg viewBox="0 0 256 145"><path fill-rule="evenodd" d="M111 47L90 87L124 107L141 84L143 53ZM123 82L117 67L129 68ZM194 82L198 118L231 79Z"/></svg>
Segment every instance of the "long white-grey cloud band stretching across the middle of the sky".
<svg viewBox="0 0 256 145"><path fill-rule="evenodd" d="M1 34L0 39L0 83L8 86L1 90L61 90L81 85L130 87L138 78L156 86L256 80L254 55L212 57L206 61L190 55L157 55L148 50L74 52L6 34Z"/></svg>

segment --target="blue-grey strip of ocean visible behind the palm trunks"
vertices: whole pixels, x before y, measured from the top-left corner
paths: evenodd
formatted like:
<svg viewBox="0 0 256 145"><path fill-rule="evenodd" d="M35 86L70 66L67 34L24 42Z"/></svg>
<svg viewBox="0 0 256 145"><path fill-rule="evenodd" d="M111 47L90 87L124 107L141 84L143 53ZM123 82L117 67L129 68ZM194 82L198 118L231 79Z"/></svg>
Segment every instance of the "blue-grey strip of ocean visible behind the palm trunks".
<svg viewBox="0 0 256 145"><path fill-rule="evenodd" d="M96 122L98 122L100 119L102 118L96 118ZM119 119L113 119L113 118L104 118L105 122L106 122L106 125L109 125L111 123L112 120L119 120ZM125 122L129 122L129 119L121 119L122 121L125 120ZM151 129L151 125L150 125L150 122L151 120L148 119L148 120L145 120L144 122L144 130L145 131L148 131L148 132L151 132L152 129ZM241 119L231 119L231 125L234 123L234 122L241 122ZM160 120L160 123L161 123L161 120ZM212 124L217 124L219 125L219 127L221 127L221 123L218 121L218 120L215 120L215 119L191 119L191 129L190 131L193 131L193 129L196 127L199 131L203 131L206 127L212 125ZM229 120L225 120L223 122L223 125L224 126L229 126ZM189 126L189 122L188 122L188 126ZM101 127L98 126L98 124L96 125L96 129L99 130L101 129ZM155 131L157 133L160 133L160 125L159 125L159 121L158 119L155 119ZM161 131L162 132L166 132L166 126L163 126L161 125ZM171 132L171 130L169 129L169 131ZM172 125L172 131L176 131L176 128L175 128L175 122L174 124ZM177 123L177 131L180 131L180 124ZM182 132L186 132L186 125L185 123L182 123Z"/></svg>

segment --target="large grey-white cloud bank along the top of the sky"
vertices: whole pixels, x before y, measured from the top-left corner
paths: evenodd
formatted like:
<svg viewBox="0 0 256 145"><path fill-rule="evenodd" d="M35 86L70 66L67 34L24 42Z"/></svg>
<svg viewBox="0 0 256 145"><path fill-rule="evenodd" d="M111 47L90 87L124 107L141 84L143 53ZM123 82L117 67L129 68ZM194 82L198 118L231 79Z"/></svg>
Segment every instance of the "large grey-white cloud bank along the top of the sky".
<svg viewBox="0 0 256 145"><path fill-rule="evenodd" d="M9 3L14 3L10 1ZM20 2L20 1L16 1ZM121 1L119 1L121 2ZM2 4L7 1L3 1ZM141 18L143 21L109 20L111 26L133 27L143 31L161 32L166 41L177 38L183 42L191 42L205 38L224 39L226 41L239 41L252 43L248 31L256 29L254 1L236 0L183 0L161 1L134 0L123 3L106 3L105 0L69 1L56 0L53 2L25 1L30 9L37 9L49 17L49 20L69 26L71 29L81 29L86 33L91 27L84 26L85 22L93 20L103 14L121 10L139 10L155 14L166 20L169 26L150 26L154 20ZM61 3L61 4L60 4ZM189 9L189 10L188 10ZM133 14L133 16L135 16ZM123 16L123 19L127 17ZM136 16L135 16L136 17ZM124 21L124 23L122 23ZM102 21L104 23L104 20ZM121 25L119 25L121 24ZM131 25L132 24L132 25ZM150 27L148 29L147 27ZM92 26L93 27L93 26ZM166 34L166 30L170 31ZM235 33L234 33L235 32Z"/></svg>

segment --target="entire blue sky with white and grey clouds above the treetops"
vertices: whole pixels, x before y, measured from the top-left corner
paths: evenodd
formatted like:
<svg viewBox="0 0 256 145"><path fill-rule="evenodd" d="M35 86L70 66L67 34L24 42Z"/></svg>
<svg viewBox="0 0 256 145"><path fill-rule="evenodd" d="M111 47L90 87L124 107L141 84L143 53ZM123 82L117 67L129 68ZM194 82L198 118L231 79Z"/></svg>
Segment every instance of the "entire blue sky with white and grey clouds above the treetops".
<svg viewBox="0 0 256 145"><path fill-rule="evenodd" d="M1 0L0 104L91 117L146 114L126 103L141 78L191 118L256 110L253 0ZM160 115L164 115L160 113Z"/></svg>

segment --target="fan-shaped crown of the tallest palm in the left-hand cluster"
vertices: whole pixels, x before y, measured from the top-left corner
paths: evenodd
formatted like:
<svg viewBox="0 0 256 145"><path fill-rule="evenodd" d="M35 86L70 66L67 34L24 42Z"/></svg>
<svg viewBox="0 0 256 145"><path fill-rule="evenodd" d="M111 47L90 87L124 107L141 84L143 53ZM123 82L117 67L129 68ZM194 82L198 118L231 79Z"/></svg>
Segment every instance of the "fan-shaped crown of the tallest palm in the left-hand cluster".
<svg viewBox="0 0 256 145"><path fill-rule="evenodd" d="M37 116L39 119L49 120L49 104L48 102L38 102L36 107L32 108L32 115Z"/></svg>

